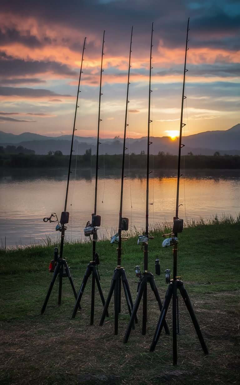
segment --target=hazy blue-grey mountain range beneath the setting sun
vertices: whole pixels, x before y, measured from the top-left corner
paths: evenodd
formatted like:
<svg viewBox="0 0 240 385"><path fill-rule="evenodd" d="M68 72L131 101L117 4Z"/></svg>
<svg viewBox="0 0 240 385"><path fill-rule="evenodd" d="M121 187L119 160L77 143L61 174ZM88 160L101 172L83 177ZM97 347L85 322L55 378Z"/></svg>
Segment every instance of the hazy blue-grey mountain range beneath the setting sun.
<svg viewBox="0 0 240 385"><path fill-rule="evenodd" d="M48 137L31 132L24 132L20 135L7 134L0 131L0 144L14 144L34 150L36 154L47 154L49 151L60 150L67 155L70 152L71 135L63 135L59 137ZM183 137L182 143L185 147L182 149L182 154L213 155L218 151L220 154L240 155L240 124L225 130L225 131L206 131L199 134ZM139 154L141 151L147 150L147 137L139 139L127 139L128 150L131 153ZM86 149L91 148L92 154L96 152L96 137L81 137L74 138L75 153L84 154ZM160 151L176 155L178 153L178 140L171 140L170 137L154 137L151 151L158 154ZM101 139L99 153L121 154L123 152L123 139Z"/></svg>

